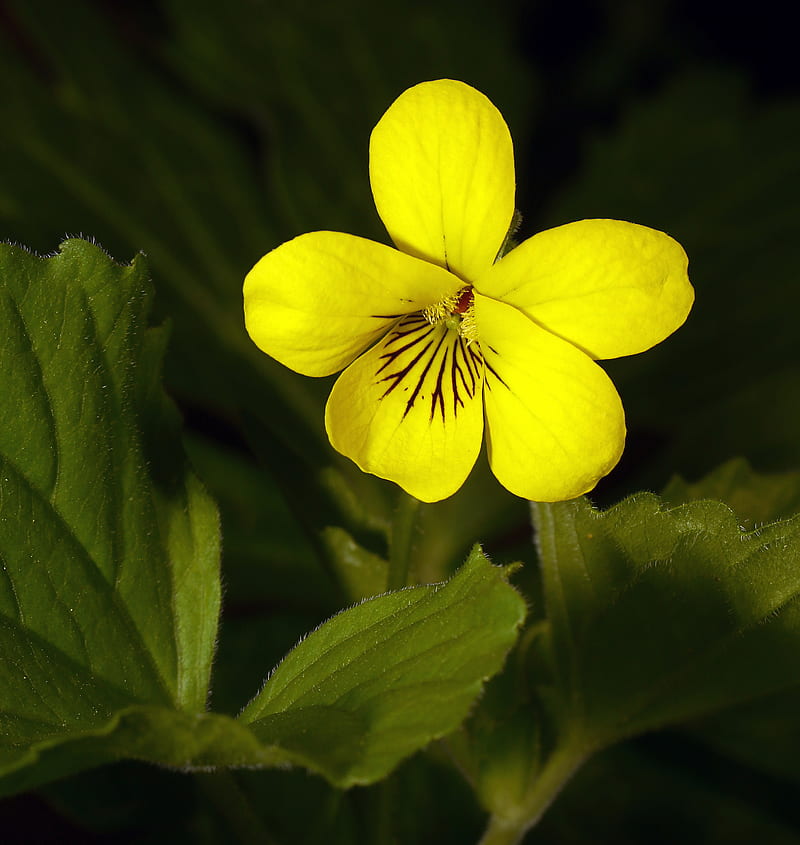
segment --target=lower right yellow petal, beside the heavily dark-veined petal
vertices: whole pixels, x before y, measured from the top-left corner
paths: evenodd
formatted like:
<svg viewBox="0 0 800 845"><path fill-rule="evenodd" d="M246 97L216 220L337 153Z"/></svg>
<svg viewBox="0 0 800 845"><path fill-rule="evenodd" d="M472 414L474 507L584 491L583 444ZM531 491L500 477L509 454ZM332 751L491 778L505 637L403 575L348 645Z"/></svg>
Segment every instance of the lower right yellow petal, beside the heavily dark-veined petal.
<svg viewBox="0 0 800 845"><path fill-rule="evenodd" d="M625 443L622 403L589 357L520 311L481 295L489 463L517 496L556 502L586 493Z"/></svg>

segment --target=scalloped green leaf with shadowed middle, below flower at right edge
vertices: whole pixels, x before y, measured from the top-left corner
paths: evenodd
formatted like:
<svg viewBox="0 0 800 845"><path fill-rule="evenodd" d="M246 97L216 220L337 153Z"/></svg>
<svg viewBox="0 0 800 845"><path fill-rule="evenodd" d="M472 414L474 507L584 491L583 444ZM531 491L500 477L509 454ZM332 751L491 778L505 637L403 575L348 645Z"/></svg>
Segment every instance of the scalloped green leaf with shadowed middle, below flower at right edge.
<svg viewBox="0 0 800 845"><path fill-rule="evenodd" d="M648 494L533 511L564 736L598 748L797 683L800 518L745 532Z"/></svg>

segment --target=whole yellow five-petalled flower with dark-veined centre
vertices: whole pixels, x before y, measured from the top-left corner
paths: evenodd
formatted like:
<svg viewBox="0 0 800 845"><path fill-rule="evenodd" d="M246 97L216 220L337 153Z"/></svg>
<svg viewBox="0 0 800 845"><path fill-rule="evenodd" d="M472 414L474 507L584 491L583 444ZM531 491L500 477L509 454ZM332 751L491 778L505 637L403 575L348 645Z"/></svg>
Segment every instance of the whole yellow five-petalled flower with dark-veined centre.
<svg viewBox="0 0 800 845"><path fill-rule="evenodd" d="M247 330L299 373L344 372L334 448L423 501L464 483L486 429L512 493L591 490L622 454L622 403L595 359L632 355L686 319L694 292L672 238L618 220L541 232L498 258L514 216L500 112L463 82L405 91L370 139L378 213L397 249L301 235L244 284Z"/></svg>

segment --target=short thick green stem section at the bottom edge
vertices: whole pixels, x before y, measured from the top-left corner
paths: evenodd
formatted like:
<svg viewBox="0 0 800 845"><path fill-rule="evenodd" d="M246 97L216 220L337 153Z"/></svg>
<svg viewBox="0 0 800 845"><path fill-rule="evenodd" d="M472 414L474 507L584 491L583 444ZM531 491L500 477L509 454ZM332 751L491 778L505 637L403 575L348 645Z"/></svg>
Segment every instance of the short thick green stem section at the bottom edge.
<svg viewBox="0 0 800 845"><path fill-rule="evenodd" d="M478 845L518 845L522 842L586 756L585 751L576 751L569 746L555 751L514 808L514 813L494 813L489 817L489 826Z"/></svg>

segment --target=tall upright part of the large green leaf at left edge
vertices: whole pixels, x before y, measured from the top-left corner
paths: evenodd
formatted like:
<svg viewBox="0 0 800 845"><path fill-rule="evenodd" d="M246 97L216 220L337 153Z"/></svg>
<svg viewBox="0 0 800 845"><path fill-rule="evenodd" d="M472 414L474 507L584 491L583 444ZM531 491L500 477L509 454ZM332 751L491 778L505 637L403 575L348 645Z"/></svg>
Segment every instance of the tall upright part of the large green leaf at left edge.
<svg viewBox="0 0 800 845"><path fill-rule="evenodd" d="M218 519L159 387L148 299L141 258L0 245L2 771L131 706L205 707Z"/></svg>

